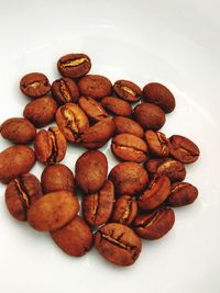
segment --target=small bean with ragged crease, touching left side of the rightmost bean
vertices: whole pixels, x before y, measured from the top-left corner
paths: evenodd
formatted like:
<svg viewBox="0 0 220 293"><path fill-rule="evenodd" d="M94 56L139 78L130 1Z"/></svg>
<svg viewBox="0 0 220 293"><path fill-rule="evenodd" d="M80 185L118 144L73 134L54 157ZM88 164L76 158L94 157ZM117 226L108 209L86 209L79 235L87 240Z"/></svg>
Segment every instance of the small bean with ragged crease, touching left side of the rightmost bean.
<svg viewBox="0 0 220 293"><path fill-rule="evenodd" d="M167 157L169 155L168 139L165 134L148 129L145 132L145 139L152 155L156 157Z"/></svg>

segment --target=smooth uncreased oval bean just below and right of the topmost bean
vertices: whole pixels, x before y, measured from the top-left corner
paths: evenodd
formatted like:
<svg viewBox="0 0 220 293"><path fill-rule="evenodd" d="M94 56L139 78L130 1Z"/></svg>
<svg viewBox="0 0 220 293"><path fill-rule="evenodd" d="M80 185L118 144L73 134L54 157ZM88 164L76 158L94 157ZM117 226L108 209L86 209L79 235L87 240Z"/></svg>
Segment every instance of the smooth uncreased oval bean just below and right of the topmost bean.
<svg viewBox="0 0 220 293"><path fill-rule="evenodd" d="M103 76L88 75L79 80L78 87L81 95L99 100L111 94L112 84Z"/></svg>

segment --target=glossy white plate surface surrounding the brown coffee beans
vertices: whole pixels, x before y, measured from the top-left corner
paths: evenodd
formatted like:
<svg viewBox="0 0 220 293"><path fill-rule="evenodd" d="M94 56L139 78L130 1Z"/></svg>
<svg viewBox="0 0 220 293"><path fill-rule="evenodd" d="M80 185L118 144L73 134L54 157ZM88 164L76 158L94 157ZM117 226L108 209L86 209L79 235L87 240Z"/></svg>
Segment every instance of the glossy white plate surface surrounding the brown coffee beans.
<svg viewBox="0 0 220 293"><path fill-rule="evenodd" d="M143 241L130 268L106 262L96 249L79 259L63 253L47 234L9 215L1 185L0 292L220 292L219 10L215 0L0 0L1 122L22 115L24 74L42 71L52 81L57 58L81 52L91 57L92 74L170 88L177 108L163 131L186 135L201 149L186 179L198 187L198 200L176 209L174 229ZM0 138L0 150L8 145ZM116 160L103 151L111 168ZM73 169L79 153L72 147L64 164Z"/></svg>

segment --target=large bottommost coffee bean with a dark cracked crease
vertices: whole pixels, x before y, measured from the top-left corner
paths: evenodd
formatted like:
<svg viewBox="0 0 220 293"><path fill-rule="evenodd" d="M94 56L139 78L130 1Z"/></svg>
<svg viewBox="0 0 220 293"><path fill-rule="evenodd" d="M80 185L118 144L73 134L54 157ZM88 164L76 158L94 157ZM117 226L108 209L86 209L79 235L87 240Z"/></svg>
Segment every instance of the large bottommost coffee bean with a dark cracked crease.
<svg viewBox="0 0 220 293"><path fill-rule="evenodd" d="M118 223L107 224L97 230L95 246L103 258L118 266L133 264L142 247L135 233Z"/></svg>

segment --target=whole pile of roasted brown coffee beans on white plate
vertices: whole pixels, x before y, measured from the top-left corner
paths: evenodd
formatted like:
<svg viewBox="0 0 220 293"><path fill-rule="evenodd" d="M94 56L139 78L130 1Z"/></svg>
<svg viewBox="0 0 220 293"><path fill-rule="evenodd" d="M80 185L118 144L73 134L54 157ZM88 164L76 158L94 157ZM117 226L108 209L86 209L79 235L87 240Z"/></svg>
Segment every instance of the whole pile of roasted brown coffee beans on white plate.
<svg viewBox="0 0 220 293"><path fill-rule="evenodd" d="M32 101L23 117L0 126L2 137L15 144L0 153L7 207L14 218L50 232L70 256L84 256L95 245L107 260L130 266L141 238L163 237L175 222L172 207L197 199L197 188L183 181L185 165L198 159L199 148L184 136L158 132L176 105L165 86L151 82L141 90L129 80L112 84L87 75L91 60L85 54L63 56L57 68L62 78L52 86L40 72L21 79L20 89ZM98 148L109 139L119 164L108 174ZM34 149L26 145L32 142ZM68 144L88 149L77 159L75 176L59 164ZM30 173L36 160L45 165L41 181Z"/></svg>

